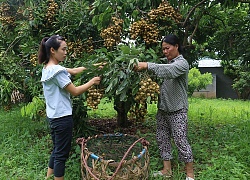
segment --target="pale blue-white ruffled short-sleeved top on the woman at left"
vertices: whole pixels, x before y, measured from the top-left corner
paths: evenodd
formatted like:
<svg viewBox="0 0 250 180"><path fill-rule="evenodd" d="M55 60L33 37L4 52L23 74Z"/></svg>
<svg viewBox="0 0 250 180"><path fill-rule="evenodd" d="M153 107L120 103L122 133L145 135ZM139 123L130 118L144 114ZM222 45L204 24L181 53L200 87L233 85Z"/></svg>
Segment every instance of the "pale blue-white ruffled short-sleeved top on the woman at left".
<svg viewBox="0 0 250 180"><path fill-rule="evenodd" d="M66 68L60 65L43 68L41 82L47 117L54 119L72 115L70 93L64 89L71 83Z"/></svg>

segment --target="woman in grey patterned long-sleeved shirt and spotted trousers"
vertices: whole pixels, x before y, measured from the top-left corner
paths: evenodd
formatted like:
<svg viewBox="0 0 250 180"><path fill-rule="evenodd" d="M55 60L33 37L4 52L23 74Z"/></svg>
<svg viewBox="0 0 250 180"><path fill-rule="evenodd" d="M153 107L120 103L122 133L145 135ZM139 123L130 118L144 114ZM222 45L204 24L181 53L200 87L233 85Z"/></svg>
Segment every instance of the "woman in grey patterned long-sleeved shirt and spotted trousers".
<svg viewBox="0 0 250 180"><path fill-rule="evenodd" d="M172 176L171 138L173 138L179 160L185 163L186 180L193 180L193 154L187 139L189 64L181 54L182 48L177 36L165 36L161 46L166 57L164 64L139 62L135 66L135 71L149 70L163 79L156 115L156 140L163 160L163 169L154 173L154 176Z"/></svg>

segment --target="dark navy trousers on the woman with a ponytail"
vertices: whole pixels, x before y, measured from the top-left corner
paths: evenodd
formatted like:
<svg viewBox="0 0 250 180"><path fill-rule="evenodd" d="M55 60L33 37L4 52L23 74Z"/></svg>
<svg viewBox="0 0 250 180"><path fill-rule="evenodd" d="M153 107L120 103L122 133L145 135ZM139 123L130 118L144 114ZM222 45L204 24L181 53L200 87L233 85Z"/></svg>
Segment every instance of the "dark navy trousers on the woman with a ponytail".
<svg viewBox="0 0 250 180"><path fill-rule="evenodd" d="M62 177L65 173L65 163L71 149L73 118L72 116L65 116L49 119L49 124L53 141L49 168L54 170L55 177Z"/></svg>

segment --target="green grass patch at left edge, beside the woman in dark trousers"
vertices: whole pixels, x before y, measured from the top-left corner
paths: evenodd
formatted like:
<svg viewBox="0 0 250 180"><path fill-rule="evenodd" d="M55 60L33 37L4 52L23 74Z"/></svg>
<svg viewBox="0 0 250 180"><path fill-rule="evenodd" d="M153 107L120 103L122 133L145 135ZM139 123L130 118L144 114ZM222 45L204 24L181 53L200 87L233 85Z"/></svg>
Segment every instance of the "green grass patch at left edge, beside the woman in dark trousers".
<svg viewBox="0 0 250 180"><path fill-rule="evenodd" d="M44 179L52 147L46 121L22 117L20 108L1 110L0 119L1 178Z"/></svg>

